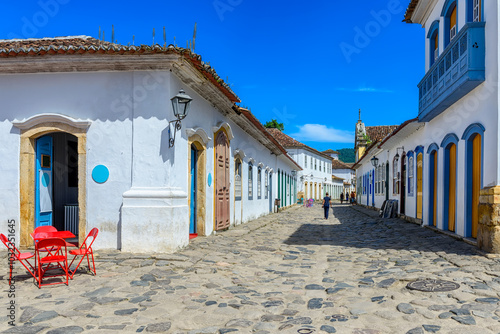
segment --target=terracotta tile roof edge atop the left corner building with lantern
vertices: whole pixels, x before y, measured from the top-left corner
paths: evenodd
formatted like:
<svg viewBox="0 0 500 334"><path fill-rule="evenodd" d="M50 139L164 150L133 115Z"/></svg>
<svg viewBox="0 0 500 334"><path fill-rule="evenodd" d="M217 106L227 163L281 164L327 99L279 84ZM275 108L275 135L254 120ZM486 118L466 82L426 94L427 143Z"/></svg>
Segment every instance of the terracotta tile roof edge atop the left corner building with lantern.
<svg viewBox="0 0 500 334"><path fill-rule="evenodd" d="M73 54L147 55L178 54L190 62L202 75L211 81L231 102L240 102L215 70L201 60L201 56L190 49L173 45L122 45L100 41L90 36L67 36L51 38L2 39L0 40L0 61L7 57L43 57Z"/></svg>

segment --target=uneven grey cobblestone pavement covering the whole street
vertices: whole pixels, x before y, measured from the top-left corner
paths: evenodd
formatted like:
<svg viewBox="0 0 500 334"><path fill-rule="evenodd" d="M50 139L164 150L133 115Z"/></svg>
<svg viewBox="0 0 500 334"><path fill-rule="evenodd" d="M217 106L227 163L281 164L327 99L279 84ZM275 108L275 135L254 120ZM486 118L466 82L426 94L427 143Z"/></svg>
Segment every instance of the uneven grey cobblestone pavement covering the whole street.
<svg viewBox="0 0 500 334"><path fill-rule="evenodd" d="M333 212L325 220L319 206L294 207L172 255L99 251L97 276L77 274L69 287L18 276L16 327L3 252L0 331L500 333L500 260L363 208ZM427 278L459 288L406 288Z"/></svg>

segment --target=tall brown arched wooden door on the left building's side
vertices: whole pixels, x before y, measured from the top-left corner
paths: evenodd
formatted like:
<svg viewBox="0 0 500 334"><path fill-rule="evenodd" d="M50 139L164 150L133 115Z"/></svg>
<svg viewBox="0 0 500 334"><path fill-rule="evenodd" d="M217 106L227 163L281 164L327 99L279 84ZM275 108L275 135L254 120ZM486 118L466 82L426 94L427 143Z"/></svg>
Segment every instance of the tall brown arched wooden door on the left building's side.
<svg viewBox="0 0 500 334"><path fill-rule="evenodd" d="M215 140L215 229L229 227L229 143L220 131Z"/></svg>

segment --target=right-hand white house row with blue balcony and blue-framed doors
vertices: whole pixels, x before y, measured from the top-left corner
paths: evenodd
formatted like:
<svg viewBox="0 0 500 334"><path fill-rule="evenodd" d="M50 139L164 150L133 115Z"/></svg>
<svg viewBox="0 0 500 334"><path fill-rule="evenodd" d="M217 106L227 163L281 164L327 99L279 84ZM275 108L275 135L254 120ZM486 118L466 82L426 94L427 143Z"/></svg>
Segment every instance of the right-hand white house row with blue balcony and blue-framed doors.
<svg viewBox="0 0 500 334"><path fill-rule="evenodd" d="M411 1L405 20L425 28L426 42L418 117L369 147L355 165L361 203L398 200L400 214L495 253L499 13L497 1Z"/></svg>

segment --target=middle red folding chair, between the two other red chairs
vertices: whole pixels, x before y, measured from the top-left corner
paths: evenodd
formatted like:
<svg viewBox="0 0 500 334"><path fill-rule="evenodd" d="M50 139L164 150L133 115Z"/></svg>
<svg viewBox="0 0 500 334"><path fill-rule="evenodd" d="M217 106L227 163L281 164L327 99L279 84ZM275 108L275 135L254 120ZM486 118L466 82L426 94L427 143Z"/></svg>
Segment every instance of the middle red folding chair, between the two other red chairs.
<svg viewBox="0 0 500 334"><path fill-rule="evenodd" d="M42 250L50 249L49 253L44 253ZM47 238L38 241L35 249L37 276L38 276L38 287L41 288L44 285L55 285L55 284L66 284L68 285L69 270L68 270L68 249L66 248L66 242L60 238ZM44 254L41 257L40 254ZM61 282L52 282L43 284L44 277L57 277L63 276L62 274L55 275L45 275L48 271L55 269L62 269L64 271L64 276L66 276L66 282L63 280Z"/></svg>

